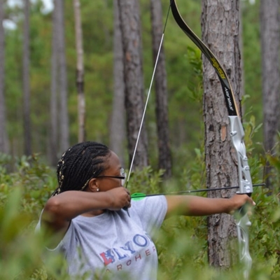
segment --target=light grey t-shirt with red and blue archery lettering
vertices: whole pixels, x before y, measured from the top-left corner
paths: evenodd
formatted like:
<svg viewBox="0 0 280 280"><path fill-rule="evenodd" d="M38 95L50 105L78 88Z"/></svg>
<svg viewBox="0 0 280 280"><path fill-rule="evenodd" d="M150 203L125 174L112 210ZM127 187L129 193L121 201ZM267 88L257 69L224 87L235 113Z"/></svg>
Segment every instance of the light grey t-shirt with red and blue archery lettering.
<svg viewBox="0 0 280 280"><path fill-rule="evenodd" d="M158 253L151 237L167 212L164 196L132 201L126 211L105 211L95 217L73 218L57 248L72 276L86 279L157 278Z"/></svg>

